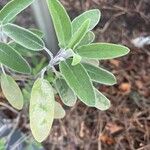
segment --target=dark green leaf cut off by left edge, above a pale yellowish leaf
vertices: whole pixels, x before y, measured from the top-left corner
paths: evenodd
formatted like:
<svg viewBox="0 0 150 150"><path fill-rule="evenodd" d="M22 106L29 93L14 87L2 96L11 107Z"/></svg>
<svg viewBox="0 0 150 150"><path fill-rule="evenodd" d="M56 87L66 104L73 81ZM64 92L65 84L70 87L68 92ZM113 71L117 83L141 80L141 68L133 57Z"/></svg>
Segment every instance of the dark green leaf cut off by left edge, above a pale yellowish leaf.
<svg viewBox="0 0 150 150"><path fill-rule="evenodd" d="M30 66L26 60L5 43L0 43L0 63L17 72L30 73Z"/></svg>

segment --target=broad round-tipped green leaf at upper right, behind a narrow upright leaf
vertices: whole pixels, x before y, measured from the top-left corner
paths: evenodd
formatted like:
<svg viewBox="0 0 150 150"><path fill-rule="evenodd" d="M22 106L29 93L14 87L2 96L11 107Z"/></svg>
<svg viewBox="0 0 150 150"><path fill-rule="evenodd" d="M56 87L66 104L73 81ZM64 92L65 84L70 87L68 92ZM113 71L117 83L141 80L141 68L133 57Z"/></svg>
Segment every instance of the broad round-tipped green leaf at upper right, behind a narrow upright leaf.
<svg viewBox="0 0 150 150"><path fill-rule="evenodd" d="M72 21L73 33L75 33L82 23L87 19L90 19L89 30L92 30L98 24L100 17L101 13L98 9L92 9L82 13Z"/></svg>

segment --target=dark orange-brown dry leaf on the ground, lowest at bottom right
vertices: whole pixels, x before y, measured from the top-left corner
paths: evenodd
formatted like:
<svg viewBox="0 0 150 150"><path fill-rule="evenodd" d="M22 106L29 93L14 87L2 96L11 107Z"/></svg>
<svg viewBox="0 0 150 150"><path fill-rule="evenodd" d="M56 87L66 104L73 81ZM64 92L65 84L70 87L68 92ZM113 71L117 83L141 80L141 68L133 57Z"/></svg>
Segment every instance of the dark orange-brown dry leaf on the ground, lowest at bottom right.
<svg viewBox="0 0 150 150"><path fill-rule="evenodd" d="M110 137L107 134L100 134L98 140L100 140L102 143L105 143L108 145L115 144L115 139L113 139L112 137Z"/></svg>

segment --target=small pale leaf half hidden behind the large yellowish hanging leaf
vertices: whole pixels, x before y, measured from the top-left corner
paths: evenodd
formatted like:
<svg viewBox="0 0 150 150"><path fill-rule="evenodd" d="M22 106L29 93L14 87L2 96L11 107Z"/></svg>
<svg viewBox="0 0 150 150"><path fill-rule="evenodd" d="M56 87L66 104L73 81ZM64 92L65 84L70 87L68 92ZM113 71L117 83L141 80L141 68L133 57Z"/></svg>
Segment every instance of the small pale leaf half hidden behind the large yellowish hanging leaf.
<svg viewBox="0 0 150 150"><path fill-rule="evenodd" d="M66 115L65 110L63 109L63 107L55 101L55 111L54 111L54 118L55 119L62 119L64 118Z"/></svg>

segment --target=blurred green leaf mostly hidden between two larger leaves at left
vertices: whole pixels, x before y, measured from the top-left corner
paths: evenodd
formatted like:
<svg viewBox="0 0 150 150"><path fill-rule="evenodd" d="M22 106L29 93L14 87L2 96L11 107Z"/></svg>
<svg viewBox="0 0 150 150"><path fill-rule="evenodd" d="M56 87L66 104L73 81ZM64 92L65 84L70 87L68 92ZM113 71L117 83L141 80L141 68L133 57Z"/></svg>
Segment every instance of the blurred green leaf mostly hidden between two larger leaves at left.
<svg viewBox="0 0 150 150"><path fill-rule="evenodd" d="M9 43L9 46L15 49L15 51L17 51L20 55L25 56L25 57L31 57L32 54L35 53L35 51L31 51L30 49L27 49L13 41Z"/></svg>

